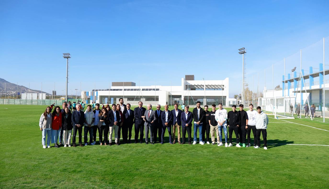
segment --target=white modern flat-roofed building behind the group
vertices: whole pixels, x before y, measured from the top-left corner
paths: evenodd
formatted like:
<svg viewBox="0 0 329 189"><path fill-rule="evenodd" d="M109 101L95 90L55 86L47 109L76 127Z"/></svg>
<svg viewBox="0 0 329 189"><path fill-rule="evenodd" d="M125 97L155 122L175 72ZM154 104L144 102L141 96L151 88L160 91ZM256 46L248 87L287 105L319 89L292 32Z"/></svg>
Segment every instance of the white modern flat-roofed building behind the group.
<svg viewBox="0 0 329 189"><path fill-rule="evenodd" d="M194 80L194 75L185 75L181 79L180 86L136 86L134 82L112 82L111 89L95 89L82 91L82 98L87 102L99 104L116 104L119 98L124 103L138 105L143 104L164 104L174 105L185 104L195 106L196 101L201 105L212 105L222 103L228 106L229 78L224 80Z"/></svg>

